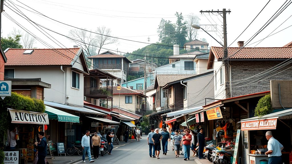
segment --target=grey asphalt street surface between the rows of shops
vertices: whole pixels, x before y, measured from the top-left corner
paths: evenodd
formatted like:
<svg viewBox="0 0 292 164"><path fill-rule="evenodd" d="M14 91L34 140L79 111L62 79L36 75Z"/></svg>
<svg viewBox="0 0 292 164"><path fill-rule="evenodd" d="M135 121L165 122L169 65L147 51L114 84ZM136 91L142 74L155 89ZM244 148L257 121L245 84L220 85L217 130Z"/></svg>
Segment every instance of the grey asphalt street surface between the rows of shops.
<svg viewBox="0 0 292 164"><path fill-rule="evenodd" d="M140 142L132 142L126 145L114 145L112 150L112 155L106 154L105 156L99 156L98 159L94 159L94 163L113 163L113 164L152 164L152 163L196 163L193 157L190 157L191 160L183 160L183 155L175 158L175 153L172 151L170 142L168 142L168 152L167 155L162 154L160 151L159 158L150 158L149 156L149 146L147 144L147 136L142 136ZM192 152L191 152L192 155ZM82 161L76 162L74 164L83 163ZM88 159L86 163L89 163Z"/></svg>

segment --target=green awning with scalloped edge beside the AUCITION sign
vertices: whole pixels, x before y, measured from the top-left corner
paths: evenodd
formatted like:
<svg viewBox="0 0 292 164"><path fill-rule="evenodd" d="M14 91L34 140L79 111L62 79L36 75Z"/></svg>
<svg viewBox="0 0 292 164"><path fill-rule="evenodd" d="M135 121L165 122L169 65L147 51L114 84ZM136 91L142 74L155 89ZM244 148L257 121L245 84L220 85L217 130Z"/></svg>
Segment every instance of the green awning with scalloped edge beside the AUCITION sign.
<svg viewBox="0 0 292 164"><path fill-rule="evenodd" d="M45 105L46 106L46 105ZM64 111L46 106L45 113L48 114L49 119L54 119L62 122L79 123L79 117Z"/></svg>

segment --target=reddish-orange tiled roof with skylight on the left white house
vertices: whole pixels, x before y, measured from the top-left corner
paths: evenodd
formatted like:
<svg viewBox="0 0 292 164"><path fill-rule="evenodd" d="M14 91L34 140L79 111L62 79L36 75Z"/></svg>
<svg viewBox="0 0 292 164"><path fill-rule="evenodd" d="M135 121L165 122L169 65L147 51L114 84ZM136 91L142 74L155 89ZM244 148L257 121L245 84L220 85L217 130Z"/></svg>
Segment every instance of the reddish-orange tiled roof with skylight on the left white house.
<svg viewBox="0 0 292 164"><path fill-rule="evenodd" d="M32 54L23 54L25 50L34 50ZM5 66L39 66L39 65L72 65L81 48L68 49L15 49L9 48L5 55ZM82 52L82 51L81 51ZM72 61L73 60L73 61Z"/></svg>

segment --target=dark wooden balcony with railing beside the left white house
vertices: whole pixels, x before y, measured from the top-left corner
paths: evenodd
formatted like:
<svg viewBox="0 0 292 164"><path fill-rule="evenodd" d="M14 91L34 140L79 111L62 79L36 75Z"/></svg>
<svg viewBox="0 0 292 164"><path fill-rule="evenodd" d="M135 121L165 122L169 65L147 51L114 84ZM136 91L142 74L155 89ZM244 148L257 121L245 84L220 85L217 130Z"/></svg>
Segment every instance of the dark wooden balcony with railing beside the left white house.
<svg viewBox="0 0 292 164"><path fill-rule="evenodd" d="M112 98L111 88L84 88L84 96L91 98Z"/></svg>

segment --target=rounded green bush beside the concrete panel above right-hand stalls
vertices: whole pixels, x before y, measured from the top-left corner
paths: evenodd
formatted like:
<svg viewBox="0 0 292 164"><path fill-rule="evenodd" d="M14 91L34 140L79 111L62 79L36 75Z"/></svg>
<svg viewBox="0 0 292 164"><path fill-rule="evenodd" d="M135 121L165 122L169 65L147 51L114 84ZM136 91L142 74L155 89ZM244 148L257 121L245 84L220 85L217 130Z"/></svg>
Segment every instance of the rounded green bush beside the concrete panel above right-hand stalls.
<svg viewBox="0 0 292 164"><path fill-rule="evenodd" d="M270 114L272 112L273 112L273 108L272 108L271 95L265 95L264 97L260 98L256 106L254 116L260 117L266 114Z"/></svg>

